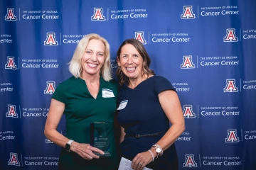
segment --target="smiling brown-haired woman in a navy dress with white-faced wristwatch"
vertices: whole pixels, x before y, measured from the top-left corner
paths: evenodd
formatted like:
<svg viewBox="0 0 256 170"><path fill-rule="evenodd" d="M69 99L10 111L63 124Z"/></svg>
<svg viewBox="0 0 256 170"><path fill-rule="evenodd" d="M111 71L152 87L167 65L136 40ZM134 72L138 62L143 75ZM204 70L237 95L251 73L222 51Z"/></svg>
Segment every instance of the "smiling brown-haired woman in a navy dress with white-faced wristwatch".
<svg viewBox="0 0 256 170"><path fill-rule="evenodd" d="M174 142L185 130L181 104L171 83L149 69L150 62L139 40L125 40L117 51L121 154L132 169L178 169Z"/></svg>

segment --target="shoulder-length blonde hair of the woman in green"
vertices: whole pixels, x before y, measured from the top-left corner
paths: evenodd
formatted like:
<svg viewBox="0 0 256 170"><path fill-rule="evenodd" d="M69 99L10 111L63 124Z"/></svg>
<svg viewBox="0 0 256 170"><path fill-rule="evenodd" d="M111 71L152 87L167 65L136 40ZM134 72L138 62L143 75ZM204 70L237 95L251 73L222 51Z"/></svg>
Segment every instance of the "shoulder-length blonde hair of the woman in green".
<svg viewBox="0 0 256 170"><path fill-rule="evenodd" d="M100 74L105 81L110 81L112 79L112 68L110 67L110 44L105 40L105 38L102 38L100 35L95 33L87 34L80 40L72 59L68 63L69 71L74 77L80 77L82 72L82 56L84 55L85 49L90 40L101 40L105 45L105 61L103 66L100 68Z"/></svg>

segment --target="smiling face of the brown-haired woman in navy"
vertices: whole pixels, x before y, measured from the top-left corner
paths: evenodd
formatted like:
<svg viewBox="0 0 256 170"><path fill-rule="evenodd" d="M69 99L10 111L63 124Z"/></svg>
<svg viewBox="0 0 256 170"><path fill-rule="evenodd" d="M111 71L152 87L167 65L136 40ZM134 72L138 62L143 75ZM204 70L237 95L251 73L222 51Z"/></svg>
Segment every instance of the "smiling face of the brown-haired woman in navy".
<svg viewBox="0 0 256 170"><path fill-rule="evenodd" d="M142 77L143 58L133 45L127 44L122 47L117 64L130 80Z"/></svg>

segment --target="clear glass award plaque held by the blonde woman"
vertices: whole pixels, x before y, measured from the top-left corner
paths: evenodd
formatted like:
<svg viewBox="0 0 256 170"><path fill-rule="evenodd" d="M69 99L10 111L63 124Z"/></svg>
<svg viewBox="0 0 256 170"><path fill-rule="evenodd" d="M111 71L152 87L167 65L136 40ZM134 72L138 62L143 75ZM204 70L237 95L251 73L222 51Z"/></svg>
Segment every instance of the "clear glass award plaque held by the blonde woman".
<svg viewBox="0 0 256 170"><path fill-rule="evenodd" d="M111 130L112 123L90 123L90 146L97 147L104 152L104 154L93 152L97 156L111 157Z"/></svg>

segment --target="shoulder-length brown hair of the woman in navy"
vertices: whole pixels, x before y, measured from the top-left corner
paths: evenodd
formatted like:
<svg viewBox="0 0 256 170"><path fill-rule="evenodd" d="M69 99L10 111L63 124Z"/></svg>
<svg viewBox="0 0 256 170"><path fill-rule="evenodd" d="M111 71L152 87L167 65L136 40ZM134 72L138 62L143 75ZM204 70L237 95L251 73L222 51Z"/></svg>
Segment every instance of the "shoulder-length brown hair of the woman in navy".
<svg viewBox="0 0 256 170"><path fill-rule="evenodd" d="M149 66L151 63L150 57L149 57L148 53L146 52L144 45L142 45L142 42L140 42L139 40L136 40L134 38L124 40L124 42L122 42L122 45L120 45L119 49L117 50L117 59L120 60L120 54L121 54L122 47L127 44L133 45L136 48L136 50L139 52L139 55L142 56L142 59L143 59L142 76L146 75L146 78L148 78L149 75L155 75L154 71L149 69ZM127 84L127 85L129 84L129 77L127 77L122 72L121 67L117 68L117 79L119 79L119 84L121 86L123 84Z"/></svg>

